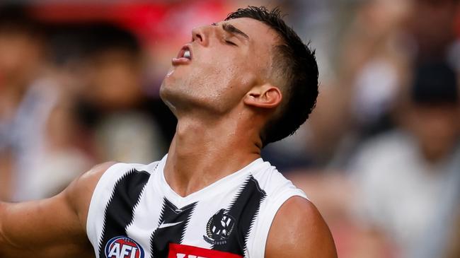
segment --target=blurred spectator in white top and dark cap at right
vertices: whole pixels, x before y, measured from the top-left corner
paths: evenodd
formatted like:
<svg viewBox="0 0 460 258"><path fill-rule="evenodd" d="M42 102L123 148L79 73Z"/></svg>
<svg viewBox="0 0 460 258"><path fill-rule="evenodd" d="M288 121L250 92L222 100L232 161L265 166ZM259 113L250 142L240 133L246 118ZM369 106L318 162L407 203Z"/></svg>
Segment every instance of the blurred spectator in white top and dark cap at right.
<svg viewBox="0 0 460 258"><path fill-rule="evenodd" d="M391 239L401 257L442 257L460 194L460 102L444 61L413 67L398 127L370 139L350 164L362 228Z"/></svg>

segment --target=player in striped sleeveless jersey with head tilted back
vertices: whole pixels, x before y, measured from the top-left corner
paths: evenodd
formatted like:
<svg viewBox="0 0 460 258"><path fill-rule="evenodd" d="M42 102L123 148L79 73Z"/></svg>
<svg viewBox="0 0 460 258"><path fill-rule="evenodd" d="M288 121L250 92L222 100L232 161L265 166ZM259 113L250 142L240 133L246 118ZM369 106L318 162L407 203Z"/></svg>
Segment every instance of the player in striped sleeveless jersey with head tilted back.
<svg viewBox="0 0 460 258"><path fill-rule="evenodd" d="M1 204L0 257L336 257L314 205L260 159L318 94L314 54L279 11L238 9L197 28L172 63L168 155L98 165L56 197Z"/></svg>

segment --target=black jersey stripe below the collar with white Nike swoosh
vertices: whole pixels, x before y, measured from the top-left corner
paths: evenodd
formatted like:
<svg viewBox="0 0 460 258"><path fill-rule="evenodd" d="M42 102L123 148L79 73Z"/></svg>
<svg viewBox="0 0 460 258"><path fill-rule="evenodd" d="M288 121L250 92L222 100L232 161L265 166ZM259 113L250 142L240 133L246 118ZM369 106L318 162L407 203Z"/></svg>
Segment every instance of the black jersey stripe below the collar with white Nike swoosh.
<svg viewBox="0 0 460 258"><path fill-rule="evenodd" d="M196 202L178 209L168 199L163 199L163 208L159 227L156 228L150 238L150 252L154 258L167 258L169 252L169 243L180 244L183 241L185 229L188 221L195 209ZM176 225L167 225L168 223L178 223ZM163 227L164 226L164 227Z"/></svg>

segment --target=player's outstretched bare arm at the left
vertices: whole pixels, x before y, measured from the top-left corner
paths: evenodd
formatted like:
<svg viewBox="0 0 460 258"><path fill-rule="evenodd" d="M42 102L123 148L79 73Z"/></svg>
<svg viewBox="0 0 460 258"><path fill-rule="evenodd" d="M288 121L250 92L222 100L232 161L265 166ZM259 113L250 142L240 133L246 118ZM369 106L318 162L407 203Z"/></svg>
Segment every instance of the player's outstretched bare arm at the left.
<svg viewBox="0 0 460 258"><path fill-rule="evenodd" d="M96 166L50 199L0 202L0 257L93 257L86 238L88 206L112 164Z"/></svg>

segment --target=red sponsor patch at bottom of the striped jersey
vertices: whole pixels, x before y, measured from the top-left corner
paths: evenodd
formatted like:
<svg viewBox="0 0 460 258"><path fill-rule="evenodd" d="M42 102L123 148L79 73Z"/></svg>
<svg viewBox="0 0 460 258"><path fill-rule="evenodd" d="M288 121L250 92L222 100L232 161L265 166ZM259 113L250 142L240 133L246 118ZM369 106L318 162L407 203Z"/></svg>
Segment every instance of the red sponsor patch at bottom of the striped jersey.
<svg viewBox="0 0 460 258"><path fill-rule="evenodd" d="M190 245L169 244L168 258L243 258L238 254L209 250Z"/></svg>

